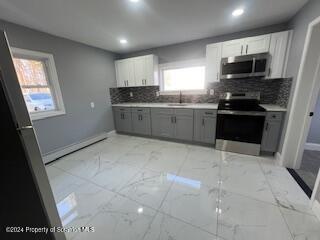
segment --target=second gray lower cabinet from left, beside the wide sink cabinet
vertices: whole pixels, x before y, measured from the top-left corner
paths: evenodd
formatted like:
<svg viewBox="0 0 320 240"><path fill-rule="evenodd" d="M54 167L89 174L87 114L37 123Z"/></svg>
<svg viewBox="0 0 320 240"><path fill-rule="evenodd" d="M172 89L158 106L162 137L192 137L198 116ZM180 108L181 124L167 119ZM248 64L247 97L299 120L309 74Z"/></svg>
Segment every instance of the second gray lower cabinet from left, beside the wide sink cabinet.
<svg viewBox="0 0 320 240"><path fill-rule="evenodd" d="M141 135L151 135L150 109L132 109L132 132Z"/></svg>

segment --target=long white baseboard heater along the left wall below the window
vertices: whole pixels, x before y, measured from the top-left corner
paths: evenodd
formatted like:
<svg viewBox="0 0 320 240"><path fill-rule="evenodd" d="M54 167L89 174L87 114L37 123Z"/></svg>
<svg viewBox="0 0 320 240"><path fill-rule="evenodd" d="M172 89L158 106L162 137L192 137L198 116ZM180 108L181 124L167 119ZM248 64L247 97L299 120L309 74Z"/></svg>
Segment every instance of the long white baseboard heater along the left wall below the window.
<svg viewBox="0 0 320 240"><path fill-rule="evenodd" d="M59 157L62 157L62 156L67 155L71 152L74 152L74 151L77 151L81 148L84 148L90 144L93 144L95 142L103 140L103 139L107 138L108 136L110 136L110 134L113 134L113 132L114 131L111 131L108 133L104 132L104 133L101 133L101 134L96 135L94 137L90 137L90 138L84 139L80 142L73 143L73 144L70 144L66 147L59 148L55 151L49 152L49 153L45 154L44 156L42 156L43 162L49 163L53 160L56 160Z"/></svg>

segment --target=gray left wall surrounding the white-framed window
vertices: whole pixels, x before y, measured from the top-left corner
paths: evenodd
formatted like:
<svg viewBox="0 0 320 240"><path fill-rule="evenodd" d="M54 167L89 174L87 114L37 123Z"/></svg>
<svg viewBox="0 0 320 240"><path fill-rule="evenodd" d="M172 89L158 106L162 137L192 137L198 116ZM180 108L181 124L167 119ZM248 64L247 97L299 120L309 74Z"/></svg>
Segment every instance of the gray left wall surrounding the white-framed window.
<svg viewBox="0 0 320 240"><path fill-rule="evenodd" d="M1 20L0 28L11 46L54 55L66 115L34 122L43 154L114 129L115 54Z"/></svg>

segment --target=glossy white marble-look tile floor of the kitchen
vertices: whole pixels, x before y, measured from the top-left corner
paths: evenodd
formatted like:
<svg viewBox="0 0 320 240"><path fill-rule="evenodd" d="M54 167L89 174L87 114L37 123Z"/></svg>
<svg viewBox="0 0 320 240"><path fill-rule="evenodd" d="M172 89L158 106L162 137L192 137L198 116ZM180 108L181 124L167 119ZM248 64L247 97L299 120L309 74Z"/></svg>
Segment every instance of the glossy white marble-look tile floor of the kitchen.
<svg viewBox="0 0 320 240"><path fill-rule="evenodd" d="M113 134L46 166L67 239L320 240L309 199L271 157Z"/></svg>

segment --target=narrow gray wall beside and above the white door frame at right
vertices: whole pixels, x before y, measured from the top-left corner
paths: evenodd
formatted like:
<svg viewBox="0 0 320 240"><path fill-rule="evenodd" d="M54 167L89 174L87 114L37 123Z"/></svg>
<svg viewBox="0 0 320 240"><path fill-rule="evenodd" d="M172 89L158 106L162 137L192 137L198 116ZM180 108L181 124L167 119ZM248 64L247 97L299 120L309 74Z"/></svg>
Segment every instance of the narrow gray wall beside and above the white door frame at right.
<svg viewBox="0 0 320 240"><path fill-rule="evenodd" d="M303 47L305 43L305 38L308 30L309 23L320 16L320 1L319 0L310 0L288 23L288 26L290 29L294 30L293 33L293 39L292 39L292 45L290 49L290 55L289 55L289 61L288 61L288 68L287 68L287 75L293 77L293 83L292 83L292 90L296 86L296 80L297 75L300 67ZM289 100L288 109L291 108L292 104L292 96ZM316 113L316 115L319 116L320 113ZM284 123L284 129L287 127L288 123L288 116L287 114L285 123ZM314 118L313 126L319 126L320 127L320 118L316 117ZM282 151L283 141L284 141L284 133L281 138L280 142L280 152ZM319 136L320 138L320 136Z"/></svg>

